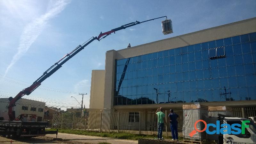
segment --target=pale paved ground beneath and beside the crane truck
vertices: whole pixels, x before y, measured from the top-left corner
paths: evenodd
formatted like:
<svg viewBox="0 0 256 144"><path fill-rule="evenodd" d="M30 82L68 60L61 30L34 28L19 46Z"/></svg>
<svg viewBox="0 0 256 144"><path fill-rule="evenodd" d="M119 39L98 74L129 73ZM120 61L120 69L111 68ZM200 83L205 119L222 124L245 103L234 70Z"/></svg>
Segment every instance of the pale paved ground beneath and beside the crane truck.
<svg viewBox="0 0 256 144"><path fill-rule="evenodd" d="M114 138L103 138L96 136L85 136L77 134L58 133L58 139L55 134L47 134L44 137L36 138L19 138L12 140L12 144L30 144L30 143L44 143L44 144L55 144L55 143L70 143L70 144L98 144L100 142L108 142L111 144L138 144L138 140L120 140ZM10 144L11 139L6 139L0 136L0 143Z"/></svg>

